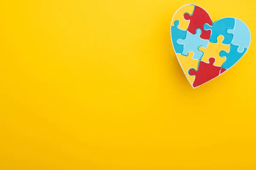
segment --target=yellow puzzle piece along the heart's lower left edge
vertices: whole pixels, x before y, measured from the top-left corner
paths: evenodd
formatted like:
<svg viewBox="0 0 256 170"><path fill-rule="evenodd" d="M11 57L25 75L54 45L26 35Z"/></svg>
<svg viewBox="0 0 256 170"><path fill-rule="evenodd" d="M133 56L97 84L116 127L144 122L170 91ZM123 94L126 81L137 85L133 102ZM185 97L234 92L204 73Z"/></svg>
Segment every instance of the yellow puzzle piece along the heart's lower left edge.
<svg viewBox="0 0 256 170"><path fill-rule="evenodd" d="M189 82L193 84L195 80L195 76L189 75L189 69L195 68L195 70L198 69L199 60L192 59L194 56L194 52L190 51L188 56L183 56L182 54L177 53L177 58L180 62L180 65L185 72L186 77L189 79Z"/></svg>

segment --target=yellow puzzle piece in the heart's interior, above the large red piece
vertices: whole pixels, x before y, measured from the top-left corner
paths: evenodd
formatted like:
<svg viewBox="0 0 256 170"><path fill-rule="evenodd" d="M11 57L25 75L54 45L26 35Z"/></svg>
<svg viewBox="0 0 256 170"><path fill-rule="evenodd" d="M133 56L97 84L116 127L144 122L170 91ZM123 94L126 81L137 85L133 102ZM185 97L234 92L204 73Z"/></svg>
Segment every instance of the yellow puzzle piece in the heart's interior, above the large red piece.
<svg viewBox="0 0 256 170"><path fill-rule="evenodd" d="M222 40L224 40L224 37L222 35L219 35L217 37L217 41L218 43L212 43L209 42L207 48L204 47L199 47L199 51L203 51L203 57L201 58L201 61L207 62L209 61L210 57L214 57L215 58L215 66L219 66L221 67L221 65L225 62L226 58L225 57L221 57L220 56L220 52L221 51L227 51L229 52L230 49L230 45L224 45L222 42Z"/></svg>

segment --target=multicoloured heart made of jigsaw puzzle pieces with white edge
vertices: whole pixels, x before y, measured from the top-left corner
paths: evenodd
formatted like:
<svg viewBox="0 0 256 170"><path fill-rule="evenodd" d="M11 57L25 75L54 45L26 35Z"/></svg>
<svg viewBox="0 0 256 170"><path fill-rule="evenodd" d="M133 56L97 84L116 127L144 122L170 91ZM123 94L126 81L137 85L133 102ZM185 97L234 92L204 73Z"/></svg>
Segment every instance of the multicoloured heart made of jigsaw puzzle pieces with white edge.
<svg viewBox="0 0 256 170"><path fill-rule="evenodd" d="M200 6L187 4L172 17L171 40L180 66L193 88L220 76L248 51L250 30L241 20L212 22Z"/></svg>

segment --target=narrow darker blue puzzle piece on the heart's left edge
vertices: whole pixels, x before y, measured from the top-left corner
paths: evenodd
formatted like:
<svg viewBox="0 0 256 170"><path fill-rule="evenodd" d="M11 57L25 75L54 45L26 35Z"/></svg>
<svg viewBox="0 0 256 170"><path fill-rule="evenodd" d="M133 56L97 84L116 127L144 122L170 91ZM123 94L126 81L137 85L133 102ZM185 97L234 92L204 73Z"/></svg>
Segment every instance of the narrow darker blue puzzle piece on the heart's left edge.
<svg viewBox="0 0 256 170"><path fill-rule="evenodd" d="M171 28L171 35L172 35L172 44L175 50L175 53L179 53L181 54L181 52L183 51L183 46L181 44L177 43L177 40L179 38L186 38L186 31L183 31L181 29L178 28L178 26L180 25L180 21L175 21L174 22L174 26L172 26Z"/></svg>

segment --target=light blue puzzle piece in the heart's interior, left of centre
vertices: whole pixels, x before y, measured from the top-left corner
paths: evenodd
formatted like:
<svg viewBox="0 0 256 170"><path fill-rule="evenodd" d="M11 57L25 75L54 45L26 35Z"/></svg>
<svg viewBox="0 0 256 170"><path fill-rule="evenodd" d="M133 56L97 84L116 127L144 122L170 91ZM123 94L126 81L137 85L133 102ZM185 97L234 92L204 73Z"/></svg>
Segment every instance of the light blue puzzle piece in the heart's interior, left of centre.
<svg viewBox="0 0 256 170"><path fill-rule="evenodd" d="M203 56L204 53L202 51L199 51L198 48L200 46L203 46L204 48L207 48L207 45L208 45L208 42L209 42L209 40L204 40L204 39L201 39L199 37L201 35L201 33L202 33L202 31L201 31L200 28L198 28L196 30L195 34L191 34L189 31L187 31L186 39L179 38L177 40L177 42L179 44L184 45L182 55L188 56L189 51L193 51L194 52L193 59L197 59L197 60L201 59L201 57Z"/></svg>

